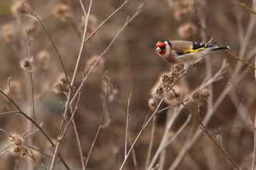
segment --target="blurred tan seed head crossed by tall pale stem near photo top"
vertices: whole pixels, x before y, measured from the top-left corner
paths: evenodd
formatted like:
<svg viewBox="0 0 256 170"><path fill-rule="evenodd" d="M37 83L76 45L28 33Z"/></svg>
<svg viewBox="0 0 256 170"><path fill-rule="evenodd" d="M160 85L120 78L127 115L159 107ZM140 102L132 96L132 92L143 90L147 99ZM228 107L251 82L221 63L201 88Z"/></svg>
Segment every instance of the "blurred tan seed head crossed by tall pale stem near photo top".
<svg viewBox="0 0 256 170"><path fill-rule="evenodd" d="M85 17L85 19L82 20L82 22L79 24L78 28L81 32L81 34L84 33L85 31L85 22L86 22L87 17ZM87 26L87 32L86 32L86 36L90 36L92 34L92 32L96 29L96 24L97 24L97 18L95 15L90 15L90 18L88 20L88 26Z"/></svg>

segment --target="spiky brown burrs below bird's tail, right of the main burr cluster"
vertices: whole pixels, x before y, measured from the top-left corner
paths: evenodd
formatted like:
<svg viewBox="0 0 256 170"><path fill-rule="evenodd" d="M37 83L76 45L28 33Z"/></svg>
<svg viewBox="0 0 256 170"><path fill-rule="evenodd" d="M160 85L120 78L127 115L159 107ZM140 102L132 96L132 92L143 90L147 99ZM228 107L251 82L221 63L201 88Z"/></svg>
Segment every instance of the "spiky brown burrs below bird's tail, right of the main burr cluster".
<svg viewBox="0 0 256 170"><path fill-rule="evenodd" d="M199 87L192 91L191 98L192 98L192 101L208 102L209 95L210 93L207 87L205 88Z"/></svg>

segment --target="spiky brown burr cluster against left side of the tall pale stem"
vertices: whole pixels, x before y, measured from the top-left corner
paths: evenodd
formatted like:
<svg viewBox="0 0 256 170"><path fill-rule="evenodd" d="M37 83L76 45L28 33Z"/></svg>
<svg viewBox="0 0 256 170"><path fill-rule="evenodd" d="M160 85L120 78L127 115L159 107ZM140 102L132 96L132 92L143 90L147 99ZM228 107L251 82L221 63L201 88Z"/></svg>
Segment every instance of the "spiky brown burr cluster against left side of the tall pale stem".
<svg viewBox="0 0 256 170"><path fill-rule="evenodd" d="M64 93L66 96L70 90L69 83L67 77L64 73L61 73L59 78L57 79L57 83L54 84L54 93Z"/></svg>

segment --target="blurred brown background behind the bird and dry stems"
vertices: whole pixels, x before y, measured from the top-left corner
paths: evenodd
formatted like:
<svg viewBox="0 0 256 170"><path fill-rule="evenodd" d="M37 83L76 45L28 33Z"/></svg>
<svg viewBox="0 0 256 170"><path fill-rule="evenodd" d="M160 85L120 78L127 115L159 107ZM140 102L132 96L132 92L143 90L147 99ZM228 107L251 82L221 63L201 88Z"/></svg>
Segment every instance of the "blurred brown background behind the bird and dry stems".
<svg viewBox="0 0 256 170"><path fill-rule="evenodd" d="M24 112L30 115L31 83L29 74L19 67L21 59L28 56L28 43L25 36L25 29L27 29L28 32L30 31L29 38L32 39L32 73L33 81L36 83L36 122L38 124L43 122L43 129L49 134L52 140L56 140L63 118L61 102L65 103L66 97L62 93L53 93L52 88L63 70L57 53L50 44L50 40L46 32L43 31L42 26L27 16L19 16L19 11L15 11L16 8L13 5L19 5L20 2L22 4L26 2L29 9L32 12L36 12L36 15L43 22L43 26L47 29L54 45L61 54L64 67L70 78L74 73L74 66L81 47L83 12L79 1L0 1L0 27L2 29L0 34L0 89L5 90L5 92L8 91L8 88L6 89L8 87L7 80L11 76L11 83L16 83L16 87L13 88L17 90L14 100ZM86 12L88 12L89 1L86 0L83 2ZM88 23L89 31L98 27L123 2L116 0L94 1L92 4L92 19ZM244 0L240 2L251 8L251 1ZM85 158L88 156L88 151L95 138L95 133L99 128L105 93L105 83L102 76L105 75L106 71L108 71L108 76L111 78L110 82L120 101L119 104L109 89L105 117L108 126L107 128L103 128L99 133L88 162L88 169L119 169L122 164L127 98L129 98L130 93L132 93L130 100L130 134L132 140L139 133L149 110L147 100L150 98L150 88L156 82L159 73L170 70L171 66L155 53L156 42L162 39L183 39L197 42L206 42L209 40L197 24L199 19L195 15L195 12L193 12L192 1L130 0L130 2L127 2L116 15L109 19L85 43L85 49L81 54L81 62L78 67L76 87L79 87L81 83L81 73L86 69L86 66L87 69L90 69L90 66L94 63L95 60L92 58L102 54L106 47L109 46L109 42L111 42L126 22L127 16L131 17L137 11L138 4L141 3L144 3L142 11L126 26L108 52L103 56L102 63L97 65L94 72L88 76L88 80L85 81L85 87L81 93L81 100L78 104L78 110L74 116L74 120L76 121L81 149ZM60 4L66 6L61 6ZM202 19L202 26L204 26L206 32L214 41L223 46L230 46L231 53L237 56L240 54L246 57L245 60L247 62L254 63L254 59L251 57L255 56L255 27L250 27L252 29L251 34L247 33L247 28L251 24L250 21L253 21L253 19L250 20L250 12L229 0L195 0L195 8L200 19ZM64 14L60 14L62 12L61 10L64 10ZM245 41L243 38L247 34L249 34L247 37L248 41L244 48L245 52L243 53L241 52ZM42 51L43 54L41 53L41 55L45 56L40 56L40 52ZM237 68L237 60L223 51L211 53L207 59L209 59L208 62L210 63L210 68L208 67L208 69L213 74L219 70L223 59L227 59L227 62L230 64L227 66L226 73L223 74L223 79L213 83L211 90L213 91L214 104L224 87L227 86L231 74L235 71L234 69ZM179 85L185 94L189 94L189 91L195 87L199 87L202 80L205 79L205 60L182 78ZM254 120L254 71L250 70L244 64L241 64L240 70L238 71L238 75L242 75L243 78L239 82L236 82L237 77L235 77L232 81L236 82L238 89L241 90L241 95L243 96L250 118ZM254 133L252 128L250 128L249 117L243 105L238 107L238 104L241 104L240 99L241 97L237 95L236 90L231 90L230 93L227 93L227 96L217 107L206 127L209 128L208 130L214 139L216 139L216 134L220 134L219 128L221 128L221 131L223 131L223 147L228 152L228 155L234 159L234 162L238 166L247 169L251 167ZM1 112L8 111L5 104L9 106L10 110L16 110L10 102L1 99ZM166 105L162 104L161 107L166 107ZM189 107L197 113L197 104L189 103ZM200 106L200 117L203 117L206 111L207 104L202 104ZM178 130L188 114L189 112L187 110L182 110L171 128L170 135ZM240 115L244 115L245 118ZM13 121L13 117L17 123ZM19 133L19 131L22 134L25 132L29 134L31 132L27 130L26 124L28 121L24 117L17 114L13 115L13 117L10 114L1 115L0 128L9 134ZM166 111L157 115L154 145L151 155L154 155L154 151L157 150L160 144L166 117ZM16 124L19 126L19 130ZM188 132L196 131L198 126L198 122L192 117L192 121L188 127L166 148L165 162L164 165L161 165L161 169L168 169L170 167L181 150ZM144 169L145 166L150 140L150 127L151 124L145 129L135 146L138 169ZM53 148L43 135L40 134L40 131L29 138L29 145L38 148L40 151L45 151L49 155L53 155ZM0 135L0 144L1 149L9 146L6 134L2 133ZM42 156L40 153L36 153L36 151L34 152L40 163L43 163L47 169L50 168L51 158ZM78 144L72 125L61 142L61 154L71 169L81 169ZM17 169L26 169L26 160L29 158L19 158L11 155L10 152L0 155L0 169L13 169L13 164L17 159L19 160ZM156 164L157 162L154 165ZM34 169L39 169L36 163L34 166ZM125 169L135 169L131 155L125 167ZM230 168L230 165L220 150L213 145L213 141L210 141L203 134L192 145L192 148L185 155L185 158L182 159L177 169L228 168ZM64 166L58 162L55 169L64 169Z"/></svg>

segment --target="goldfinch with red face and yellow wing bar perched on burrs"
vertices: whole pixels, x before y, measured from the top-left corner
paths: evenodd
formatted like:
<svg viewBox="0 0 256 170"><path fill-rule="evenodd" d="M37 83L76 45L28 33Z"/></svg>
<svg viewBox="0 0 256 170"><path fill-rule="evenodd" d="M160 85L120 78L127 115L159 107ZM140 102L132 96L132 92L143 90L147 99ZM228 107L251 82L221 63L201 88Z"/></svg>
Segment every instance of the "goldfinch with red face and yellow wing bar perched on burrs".
<svg viewBox="0 0 256 170"><path fill-rule="evenodd" d="M183 40L161 40L156 44L156 53L168 63L184 65L184 70L198 63L207 53L220 49L230 49L230 46L217 46L202 42Z"/></svg>

